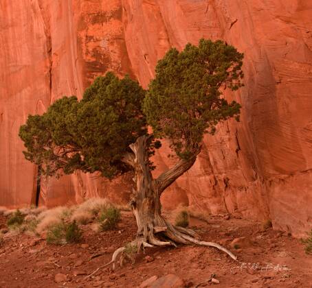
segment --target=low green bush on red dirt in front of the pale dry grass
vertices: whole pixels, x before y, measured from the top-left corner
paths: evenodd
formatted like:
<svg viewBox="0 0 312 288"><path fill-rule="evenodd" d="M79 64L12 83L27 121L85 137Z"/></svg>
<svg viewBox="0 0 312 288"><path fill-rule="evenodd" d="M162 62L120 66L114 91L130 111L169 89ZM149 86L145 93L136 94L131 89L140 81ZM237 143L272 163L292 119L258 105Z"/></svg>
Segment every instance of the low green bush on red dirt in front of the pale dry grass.
<svg viewBox="0 0 312 288"><path fill-rule="evenodd" d="M76 221L66 224L61 221L52 225L47 230L47 243L61 245L65 243L78 243L82 238L82 232Z"/></svg>

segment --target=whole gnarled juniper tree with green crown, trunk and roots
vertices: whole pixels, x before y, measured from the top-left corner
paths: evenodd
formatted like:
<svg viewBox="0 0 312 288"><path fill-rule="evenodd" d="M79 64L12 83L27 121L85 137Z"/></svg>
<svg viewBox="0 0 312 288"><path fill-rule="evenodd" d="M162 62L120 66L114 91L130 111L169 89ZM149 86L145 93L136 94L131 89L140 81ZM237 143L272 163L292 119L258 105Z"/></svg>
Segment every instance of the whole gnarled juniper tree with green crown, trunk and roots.
<svg viewBox="0 0 312 288"><path fill-rule="evenodd" d="M19 136L25 158L41 165L41 173L99 171L115 178L133 171L131 208L137 220L138 250L151 245L197 243L236 257L216 243L199 241L194 231L173 226L161 215L160 196L188 171L201 151L205 133L214 134L220 121L235 117L241 106L224 99L222 91L243 86L243 54L221 40L201 39L183 51L170 49L155 69L145 91L128 76L98 77L81 101L63 97L43 115L30 115ZM148 125L153 134L148 133ZM153 178L151 155L167 139L177 163ZM113 254L115 261L118 253Z"/></svg>

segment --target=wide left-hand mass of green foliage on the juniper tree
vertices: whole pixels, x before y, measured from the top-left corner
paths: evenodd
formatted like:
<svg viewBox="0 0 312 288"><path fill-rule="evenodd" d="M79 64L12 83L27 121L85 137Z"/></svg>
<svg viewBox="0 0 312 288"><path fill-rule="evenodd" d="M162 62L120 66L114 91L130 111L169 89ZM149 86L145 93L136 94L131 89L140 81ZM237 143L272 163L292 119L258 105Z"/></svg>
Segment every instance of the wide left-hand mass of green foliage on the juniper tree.
<svg viewBox="0 0 312 288"><path fill-rule="evenodd" d="M145 91L128 76L98 77L82 101L63 97L42 116L30 115L19 136L27 160L42 165L44 175L59 171L100 171L113 178L128 171L121 159L138 136L146 134L142 114Z"/></svg>

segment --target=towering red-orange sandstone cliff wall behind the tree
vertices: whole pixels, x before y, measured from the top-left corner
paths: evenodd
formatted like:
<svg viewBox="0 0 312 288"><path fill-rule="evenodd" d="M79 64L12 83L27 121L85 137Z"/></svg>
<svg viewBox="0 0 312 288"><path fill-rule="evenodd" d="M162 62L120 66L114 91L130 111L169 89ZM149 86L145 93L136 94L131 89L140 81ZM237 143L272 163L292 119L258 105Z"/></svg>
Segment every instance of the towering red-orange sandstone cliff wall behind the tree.
<svg viewBox="0 0 312 288"><path fill-rule="evenodd" d="M197 163L164 195L211 213L271 218L300 236L312 226L312 2L307 0L0 1L0 205L29 204L36 168L17 134L27 115L63 95L81 97L96 75L130 73L146 86L157 59L199 38L245 53L243 106L205 139ZM169 162L166 148L156 156ZM76 173L49 180L43 202L93 195L123 200L128 179ZM118 198L120 197L120 198Z"/></svg>

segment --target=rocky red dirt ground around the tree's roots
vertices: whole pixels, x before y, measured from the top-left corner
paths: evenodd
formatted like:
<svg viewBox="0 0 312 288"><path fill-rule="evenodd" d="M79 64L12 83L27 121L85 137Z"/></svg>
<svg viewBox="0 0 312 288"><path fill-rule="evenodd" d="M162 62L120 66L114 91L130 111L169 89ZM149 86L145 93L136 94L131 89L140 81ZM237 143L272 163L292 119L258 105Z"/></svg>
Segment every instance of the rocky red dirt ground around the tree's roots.
<svg viewBox="0 0 312 288"><path fill-rule="evenodd" d="M4 222L5 218L0 218L0 224ZM186 287L205 287L214 285L207 282L212 273L220 281L216 287L312 287L312 256L304 253L300 240L271 228L263 230L260 224L246 219L191 219L190 226L201 239L223 243L227 248L237 237L250 242L245 248L231 248L238 262L214 248L181 246L149 248L133 265L118 265L115 272L109 267L98 269L111 260L115 249L135 239L135 219L123 212L119 230L97 233L91 226L83 226L82 243L88 244L87 248L81 243L48 245L27 235L6 239L0 246L0 287L137 287L151 276L166 274L176 274ZM154 260L147 262L146 255ZM55 283L58 273L66 274L67 281ZM75 276L77 273L82 275Z"/></svg>

